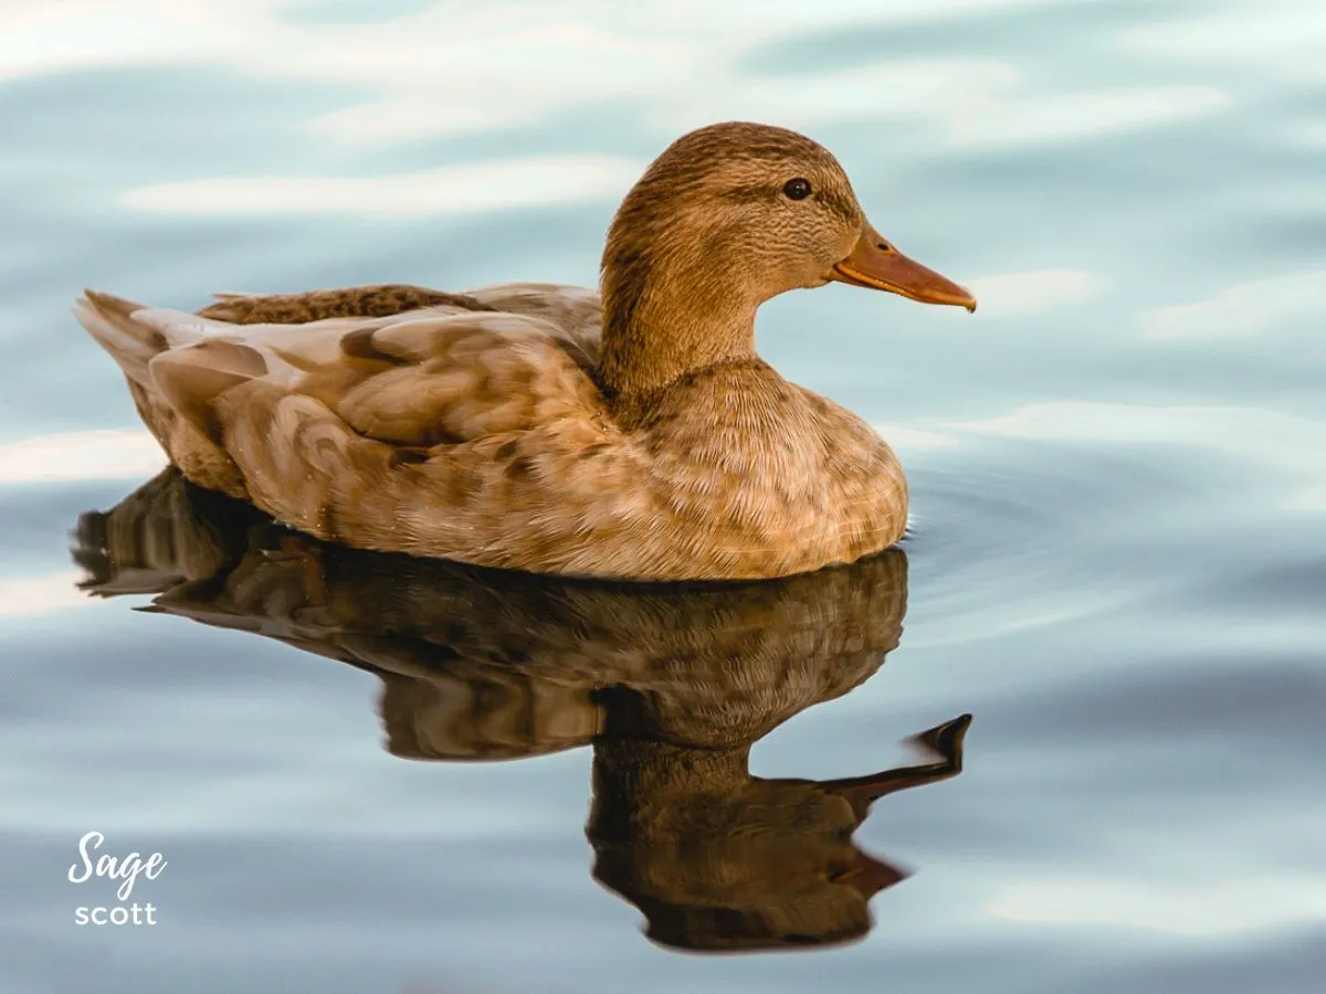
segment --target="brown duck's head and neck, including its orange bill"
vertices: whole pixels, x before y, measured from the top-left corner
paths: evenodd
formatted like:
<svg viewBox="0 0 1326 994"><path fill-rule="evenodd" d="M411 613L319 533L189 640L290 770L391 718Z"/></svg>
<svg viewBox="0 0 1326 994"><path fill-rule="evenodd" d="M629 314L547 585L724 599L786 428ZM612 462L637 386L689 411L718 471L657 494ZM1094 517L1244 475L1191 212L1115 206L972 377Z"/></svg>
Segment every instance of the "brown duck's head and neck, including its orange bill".
<svg viewBox="0 0 1326 994"><path fill-rule="evenodd" d="M754 311L830 281L976 309L866 220L822 146L780 127L712 125L674 142L627 193L602 261L602 378L648 390L753 355Z"/></svg>

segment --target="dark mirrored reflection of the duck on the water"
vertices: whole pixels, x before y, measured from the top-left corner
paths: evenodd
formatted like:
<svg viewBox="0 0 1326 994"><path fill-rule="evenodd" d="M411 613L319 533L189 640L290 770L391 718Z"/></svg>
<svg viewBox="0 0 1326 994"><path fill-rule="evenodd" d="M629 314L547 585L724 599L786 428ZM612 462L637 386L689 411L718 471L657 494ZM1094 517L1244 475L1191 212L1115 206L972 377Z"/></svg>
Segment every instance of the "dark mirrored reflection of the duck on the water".
<svg viewBox="0 0 1326 994"><path fill-rule="evenodd" d="M387 749L518 759L593 746L594 879L688 950L846 942L906 873L853 834L886 794L961 771L963 716L926 761L835 781L749 773L752 745L867 680L898 645L907 559L758 583L619 584L328 545L167 469L78 522L84 587L239 628L382 680Z"/></svg>

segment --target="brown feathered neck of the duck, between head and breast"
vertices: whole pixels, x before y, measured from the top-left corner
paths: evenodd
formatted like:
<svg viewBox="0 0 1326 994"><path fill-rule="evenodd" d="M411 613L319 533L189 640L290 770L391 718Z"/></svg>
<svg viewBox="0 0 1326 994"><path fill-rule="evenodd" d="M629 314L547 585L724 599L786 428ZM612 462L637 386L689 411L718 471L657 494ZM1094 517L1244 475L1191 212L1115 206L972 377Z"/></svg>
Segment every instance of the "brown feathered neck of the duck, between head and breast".
<svg viewBox="0 0 1326 994"><path fill-rule="evenodd" d="M614 403L756 358L756 304L712 265L656 258L648 250L605 258L598 378Z"/></svg>

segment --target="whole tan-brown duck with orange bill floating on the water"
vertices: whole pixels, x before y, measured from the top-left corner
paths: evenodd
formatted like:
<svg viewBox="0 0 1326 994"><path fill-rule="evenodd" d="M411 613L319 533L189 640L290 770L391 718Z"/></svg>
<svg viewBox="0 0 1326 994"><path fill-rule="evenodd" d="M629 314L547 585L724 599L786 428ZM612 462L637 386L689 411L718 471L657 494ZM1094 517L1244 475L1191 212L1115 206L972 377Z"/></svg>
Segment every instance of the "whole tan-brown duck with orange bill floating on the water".
<svg viewBox="0 0 1326 994"><path fill-rule="evenodd" d="M751 580L895 545L907 481L861 417L756 350L765 301L842 282L975 310L782 127L672 142L607 232L599 288L86 290L74 314L191 482L322 541L618 580Z"/></svg>

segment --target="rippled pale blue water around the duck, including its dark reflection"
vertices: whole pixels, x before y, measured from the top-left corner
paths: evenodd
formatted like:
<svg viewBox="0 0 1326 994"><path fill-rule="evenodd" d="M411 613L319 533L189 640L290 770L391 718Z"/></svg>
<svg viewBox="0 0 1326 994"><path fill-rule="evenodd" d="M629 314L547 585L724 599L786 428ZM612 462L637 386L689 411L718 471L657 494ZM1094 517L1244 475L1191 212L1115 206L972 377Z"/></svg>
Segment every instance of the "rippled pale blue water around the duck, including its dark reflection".
<svg viewBox="0 0 1326 994"><path fill-rule="evenodd" d="M1326 11L717 7L0 7L7 991L1319 990ZM903 554L651 606L164 502L155 571L77 588L80 516L162 465L81 286L590 282L639 167L729 117L981 298L761 311L895 443ZM967 713L849 844L822 785L956 773L899 744ZM167 859L156 925L76 924L118 904L66 879L94 830ZM865 936L851 880L891 884ZM720 884L804 948L675 952L754 929L668 911Z"/></svg>

